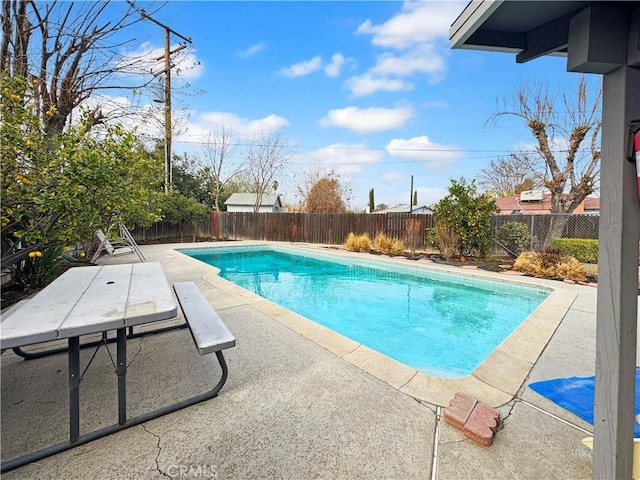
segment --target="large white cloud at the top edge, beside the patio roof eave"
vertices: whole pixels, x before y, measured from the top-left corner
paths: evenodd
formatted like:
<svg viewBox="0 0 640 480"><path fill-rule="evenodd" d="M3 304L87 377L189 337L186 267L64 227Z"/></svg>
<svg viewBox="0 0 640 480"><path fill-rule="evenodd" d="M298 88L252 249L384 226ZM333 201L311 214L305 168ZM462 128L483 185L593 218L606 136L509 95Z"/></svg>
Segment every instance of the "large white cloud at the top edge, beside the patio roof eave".
<svg viewBox="0 0 640 480"><path fill-rule="evenodd" d="M402 12L380 25L367 20L356 33L373 35L374 45L404 49L446 39L449 26L467 2L405 2Z"/></svg>

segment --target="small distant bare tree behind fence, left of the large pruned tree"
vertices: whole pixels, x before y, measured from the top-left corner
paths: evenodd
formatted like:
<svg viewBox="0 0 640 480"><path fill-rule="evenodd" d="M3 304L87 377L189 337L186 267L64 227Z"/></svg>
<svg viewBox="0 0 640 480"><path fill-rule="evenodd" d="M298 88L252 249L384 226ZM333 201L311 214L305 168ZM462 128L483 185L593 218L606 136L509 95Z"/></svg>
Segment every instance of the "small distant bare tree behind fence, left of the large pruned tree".
<svg viewBox="0 0 640 480"><path fill-rule="evenodd" d="M541 187L540 178L528 155L511 154L509 158L492 159L478 172L478 185L496 197L517 195L524 190ZM534 180L535 179L535 180Z"/></svg>

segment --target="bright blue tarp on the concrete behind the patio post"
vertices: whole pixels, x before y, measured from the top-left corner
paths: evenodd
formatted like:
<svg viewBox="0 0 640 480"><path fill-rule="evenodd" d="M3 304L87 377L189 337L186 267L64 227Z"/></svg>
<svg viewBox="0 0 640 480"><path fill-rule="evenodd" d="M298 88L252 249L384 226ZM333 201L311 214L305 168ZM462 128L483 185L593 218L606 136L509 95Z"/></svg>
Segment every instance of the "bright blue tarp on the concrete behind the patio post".
<svg viewBox="0 0 640 480"><path fill-rule="evenodd" d="M555 378L530 383L534 392L575 413L593 425L593 399L596 377ZM640 414L640 367L636 367L636 415ZM640 424L634 422L634 437L640 437Z"/></svg>

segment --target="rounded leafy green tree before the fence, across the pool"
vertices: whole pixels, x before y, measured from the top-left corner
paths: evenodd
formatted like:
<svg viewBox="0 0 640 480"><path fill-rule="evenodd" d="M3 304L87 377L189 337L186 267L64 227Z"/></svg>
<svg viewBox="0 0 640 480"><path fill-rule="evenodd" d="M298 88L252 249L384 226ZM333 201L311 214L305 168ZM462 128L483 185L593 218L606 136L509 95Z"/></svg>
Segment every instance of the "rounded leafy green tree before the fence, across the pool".
<svg viewBox="0 0 640 480"><path fill-rule="evenodd" d="M479 194L475 181L451 179L449 194L434 208L436 229L448 229L459 238L458 254L484 256L490 245L491 215L498 211L495 200Z"/></svg>

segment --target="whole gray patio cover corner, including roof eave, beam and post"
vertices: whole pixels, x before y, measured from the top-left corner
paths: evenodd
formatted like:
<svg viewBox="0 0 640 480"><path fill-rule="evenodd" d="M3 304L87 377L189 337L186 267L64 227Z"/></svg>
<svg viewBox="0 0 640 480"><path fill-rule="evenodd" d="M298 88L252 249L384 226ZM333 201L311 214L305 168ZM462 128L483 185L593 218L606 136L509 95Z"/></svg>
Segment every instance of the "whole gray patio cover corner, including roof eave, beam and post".
<svg viewBox="0 0 640 480"><path fill-rule="evenodd" d="M640 118L640 2L472 0L449 38L518 62L566 53L567 70L604 75L593 477L631 478L640 204L627 145Z"/></svg>

